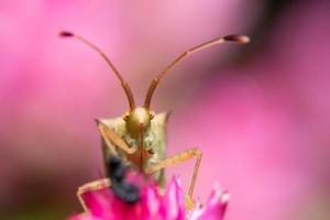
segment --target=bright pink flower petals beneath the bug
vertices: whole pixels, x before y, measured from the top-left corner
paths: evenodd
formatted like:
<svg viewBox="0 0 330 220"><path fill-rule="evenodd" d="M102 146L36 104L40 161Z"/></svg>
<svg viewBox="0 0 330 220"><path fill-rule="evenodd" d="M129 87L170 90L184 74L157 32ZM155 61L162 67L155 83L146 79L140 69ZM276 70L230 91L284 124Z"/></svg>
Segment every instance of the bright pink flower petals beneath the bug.
<svg viewBox="0 0 330 220"><path fill-rule="evenodd" d="M88 191L82 195L88 211L69 220L222 220L228 198L227 193L215 189L206 206L197 204L187 210L180 183L173 178L164 194L156 185L143 187L135 204L121 200L108 188Z"/></svg>

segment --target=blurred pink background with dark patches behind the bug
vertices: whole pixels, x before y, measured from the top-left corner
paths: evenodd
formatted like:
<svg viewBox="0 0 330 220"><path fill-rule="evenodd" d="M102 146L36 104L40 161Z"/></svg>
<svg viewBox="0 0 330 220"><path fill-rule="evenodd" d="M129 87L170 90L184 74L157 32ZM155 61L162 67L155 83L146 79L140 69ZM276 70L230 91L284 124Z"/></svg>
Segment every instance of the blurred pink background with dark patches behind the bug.
<svg viewBox="0 0 330 220"><path fill-rule="evenodd" d="M79 185L102 170L95 118L128 103L111 57L142 103L186 48L231 33L175 68L153 109L172 110L168 153L204 151L195 195L231 193L227 220L330 219L328 0L0 1L0 219L81 210ZM193 163L169 169L187 187Z"/></svg>

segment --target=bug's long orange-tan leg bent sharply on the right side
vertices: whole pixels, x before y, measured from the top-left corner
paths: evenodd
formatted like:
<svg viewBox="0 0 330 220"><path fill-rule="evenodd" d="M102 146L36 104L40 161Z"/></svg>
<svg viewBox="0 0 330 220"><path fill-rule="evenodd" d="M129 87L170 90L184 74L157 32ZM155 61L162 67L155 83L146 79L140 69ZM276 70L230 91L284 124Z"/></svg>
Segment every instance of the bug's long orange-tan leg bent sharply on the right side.
<svg viewBox="0 0 330 220"><path fill-rule="evenodd" d="M145 173L146 174L152 174L152 173L155 173L155 172L157 172L162 168L174 166L176 164L186 162L189 158L197 157L196 163L195 163L193 178L191 178L191 182L190 182L190 187L189 187L189 190L188 190L188 199L190 200L190 204L191 204L193 202L193 193L194 193L195 182L196 182L197 173L198 173L199 165L200 165L200 162L201 162L201 156L202 156L202 153L199 148L186 150L182 153L178 153L178 154L175 154L170 157L167 157L164 161L161 161L155 165L152 165L152 166L147 167L145 169Z"/></svg>

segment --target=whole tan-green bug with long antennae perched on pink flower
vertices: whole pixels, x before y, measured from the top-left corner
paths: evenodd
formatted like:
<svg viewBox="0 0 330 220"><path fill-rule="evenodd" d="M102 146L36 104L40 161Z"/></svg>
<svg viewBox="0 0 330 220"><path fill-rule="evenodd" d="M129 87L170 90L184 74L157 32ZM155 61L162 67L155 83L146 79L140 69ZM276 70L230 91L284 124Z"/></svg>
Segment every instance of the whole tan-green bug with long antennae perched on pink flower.
<svg viewBox="0 0 330 220"><path fill-rule="evenodd" d="M173 156L166 156L166 123L169 114L167 112L155 114L151 108L152 97L164 76L191 54L224 42L246 44L250 38L245 35L227 35L191 47L174 59L163 72L156 75L148 87L144 105L135 106L133 94L129 84L123 79L112 62L99 47L82 36L76 35L72 32L62 32L61 36L75 37L99 53L121 82L127 95L130 109L122 117L97 120L97 127L102 139L105 161L107 161L110 156L119 156L127 165L136 167L143 174L153 176L160 185L164 185L164 168L196 157L189 190L186 196L186 205L191 207L194 205L193 193L195 182L202 153L198 147L195 147ZM110 180L108 178L96 180L79 187L77 195L80 201L82 201L80 196L87 190L97 190L108 186L110 186Z"/></svg>

